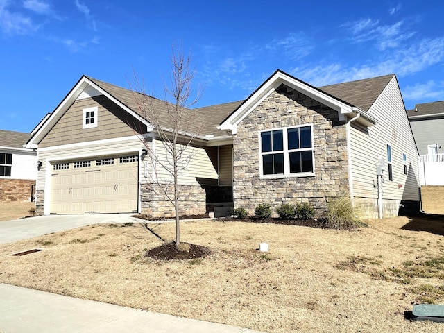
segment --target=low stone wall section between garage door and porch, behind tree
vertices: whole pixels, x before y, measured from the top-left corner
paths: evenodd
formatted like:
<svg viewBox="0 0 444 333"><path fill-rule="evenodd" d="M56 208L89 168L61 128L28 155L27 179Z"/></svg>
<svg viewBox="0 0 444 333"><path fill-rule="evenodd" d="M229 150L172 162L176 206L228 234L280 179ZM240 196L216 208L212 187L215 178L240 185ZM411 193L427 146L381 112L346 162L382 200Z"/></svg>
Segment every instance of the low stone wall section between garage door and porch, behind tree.
<svg viewBox="0 0 444 333"><path fill-rule="evenodd" d="M171 191L173 186L171 185ZM196 185L180 185L179 214L205 214L206 194L205 189ZM152 217L173 217L174 207L162 194L162 190L156 184L142 184L140 188L142 201L142 214Z"/></svg>

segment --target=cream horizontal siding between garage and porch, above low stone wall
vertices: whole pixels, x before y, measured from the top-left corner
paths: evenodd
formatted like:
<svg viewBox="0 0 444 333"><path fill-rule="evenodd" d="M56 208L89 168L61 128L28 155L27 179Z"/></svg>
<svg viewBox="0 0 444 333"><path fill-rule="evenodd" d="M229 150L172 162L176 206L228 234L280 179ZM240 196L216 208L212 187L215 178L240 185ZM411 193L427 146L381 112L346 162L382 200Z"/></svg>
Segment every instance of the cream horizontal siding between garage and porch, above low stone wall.
<svg viewBox="0 0 444 333"><path fill-rule="evenodd" d="M171 155L158 139L155 142L156 177L159 182L173 182ZM180 163L178 182L180 185L217 185L217 147L187 147ZM190 158L191 157L191 158ZM162 164L164 167L162 167ZM171 172L168 172L171 171Z"/></svg>

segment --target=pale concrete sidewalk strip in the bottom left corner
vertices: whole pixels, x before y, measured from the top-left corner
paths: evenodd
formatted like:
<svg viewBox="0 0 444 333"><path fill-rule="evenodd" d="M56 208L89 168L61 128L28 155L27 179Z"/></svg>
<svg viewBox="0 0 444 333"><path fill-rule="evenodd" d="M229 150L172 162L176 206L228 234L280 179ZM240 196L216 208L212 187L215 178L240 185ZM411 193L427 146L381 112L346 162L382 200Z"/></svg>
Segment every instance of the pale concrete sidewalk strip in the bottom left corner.
<svg viewBox="0 0 444 333"><path fill-rule="evenodd" d="M2 333L259 333L0 284Z"/></svg>

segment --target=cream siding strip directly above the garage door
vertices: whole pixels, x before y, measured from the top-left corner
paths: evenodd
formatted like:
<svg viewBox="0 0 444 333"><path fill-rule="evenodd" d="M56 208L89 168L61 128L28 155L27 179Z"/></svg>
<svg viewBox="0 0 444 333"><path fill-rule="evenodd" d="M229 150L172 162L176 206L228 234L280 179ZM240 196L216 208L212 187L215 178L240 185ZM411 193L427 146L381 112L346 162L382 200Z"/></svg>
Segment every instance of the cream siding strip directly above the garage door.
<svg viewBox="0 0 444 333"><path fill-rule="evenodd" d="M37 190L45 190L46 174L51 175L51 170L46 170L48 167L46 160L79 160L83 159L83 157L115 156L117 154L125 155L126 153L128 153L128 155L135 155L139 153L139 149L141 148L142 143L139 137L134 136L126 140L107 140L96 142L96 144L80 144L59 146L53 149L40 149L38 159L43 162L43 166L37 175Z"/></svg>

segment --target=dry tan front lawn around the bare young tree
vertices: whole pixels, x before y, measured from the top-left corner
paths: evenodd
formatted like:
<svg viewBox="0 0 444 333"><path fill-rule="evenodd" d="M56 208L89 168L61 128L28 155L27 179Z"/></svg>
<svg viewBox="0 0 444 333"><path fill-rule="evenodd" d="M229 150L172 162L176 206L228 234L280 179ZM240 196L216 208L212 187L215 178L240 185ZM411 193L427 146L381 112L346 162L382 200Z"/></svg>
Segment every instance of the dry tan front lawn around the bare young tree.
<svg viewBox="0 0 444 333"><path fill-rule="evenodd" d="M444 332L403 316L420 299L413 288L443 286L441 275L393 273L444 257L444 221L368 223L336 231L186 221L182 241L212 253L171 262L144 257L162 241L142 224L90 225L0 246L0 282L264 332ZM173 223L148 227L164 239L175 232ZM11 256L32 248L44 250Z"/></svg>

